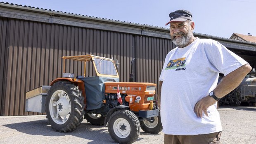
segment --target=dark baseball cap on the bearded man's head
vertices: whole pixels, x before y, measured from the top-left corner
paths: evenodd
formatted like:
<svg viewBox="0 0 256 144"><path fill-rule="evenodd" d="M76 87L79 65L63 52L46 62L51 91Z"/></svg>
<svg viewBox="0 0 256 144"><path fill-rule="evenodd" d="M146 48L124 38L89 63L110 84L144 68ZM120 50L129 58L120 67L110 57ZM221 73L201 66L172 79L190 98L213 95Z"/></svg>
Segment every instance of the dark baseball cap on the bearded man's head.
<svg viewBox="0 0 256 144"><path fill-rule="evenodd" d="M183 9L176 10L175 12L171 12L169 14L169 17L170 17L170 21L165 24L166 26L173 21L186 21L187 19L192 21L191 12Z"/></svg>

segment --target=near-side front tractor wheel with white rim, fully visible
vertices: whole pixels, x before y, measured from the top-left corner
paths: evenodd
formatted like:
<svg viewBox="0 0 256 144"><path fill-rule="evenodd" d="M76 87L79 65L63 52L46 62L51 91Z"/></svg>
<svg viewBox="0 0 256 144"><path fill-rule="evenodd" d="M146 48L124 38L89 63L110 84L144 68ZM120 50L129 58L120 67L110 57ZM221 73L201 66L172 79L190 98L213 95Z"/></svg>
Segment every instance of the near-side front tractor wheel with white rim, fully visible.
<svg viewBox="0 0 256 144"><path fill-rule="evenodd" d="M131 144L140 135L140 122L131 111L118 110L109 118L109 134L120 144Z"/></svg>

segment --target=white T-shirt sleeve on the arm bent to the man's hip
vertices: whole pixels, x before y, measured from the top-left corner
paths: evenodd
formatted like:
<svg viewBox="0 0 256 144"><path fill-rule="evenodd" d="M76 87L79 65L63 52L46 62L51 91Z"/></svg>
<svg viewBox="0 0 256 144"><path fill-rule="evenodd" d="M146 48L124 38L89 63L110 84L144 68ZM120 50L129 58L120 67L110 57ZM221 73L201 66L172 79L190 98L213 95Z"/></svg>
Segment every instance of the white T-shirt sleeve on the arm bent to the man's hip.
<svg viewBox="0 0 256 144"><path fill-rule="evenodd" d="M225 76L242 65L248 64L244 59L237 56L225 46L216 41L206 43L207 58L211 63L211 70L223 73Z"/></svg>

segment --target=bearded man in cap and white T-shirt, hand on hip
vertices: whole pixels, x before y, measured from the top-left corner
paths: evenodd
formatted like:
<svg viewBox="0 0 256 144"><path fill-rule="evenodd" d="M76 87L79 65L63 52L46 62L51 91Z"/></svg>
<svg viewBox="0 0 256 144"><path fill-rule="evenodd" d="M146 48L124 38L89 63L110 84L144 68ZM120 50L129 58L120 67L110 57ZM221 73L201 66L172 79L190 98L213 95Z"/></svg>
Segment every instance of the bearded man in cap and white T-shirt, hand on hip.
<svg viewBox="0 0 256 144"><path fill-rule="evenodd" d="M187 10L169 14L174 44L159 77L159 106L165 144L218 144L222 131L216 109L220 98L251 71L242 58L211 39L193 36ZM217 85L218 75L225 77Z"/></svg>

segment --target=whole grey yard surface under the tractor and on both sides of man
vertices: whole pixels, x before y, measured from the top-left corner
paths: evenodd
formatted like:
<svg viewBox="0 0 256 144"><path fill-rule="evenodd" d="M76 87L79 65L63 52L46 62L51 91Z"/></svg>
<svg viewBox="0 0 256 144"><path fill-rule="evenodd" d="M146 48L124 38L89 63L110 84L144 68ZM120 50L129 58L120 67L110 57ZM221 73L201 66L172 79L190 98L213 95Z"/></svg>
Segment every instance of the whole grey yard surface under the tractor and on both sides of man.
<svg viewBox="0 0 256 144"><path fill-rule="evenodd" d="M256 144L256 107L220 107L221 144ZM0 116L0 144L115 144L108 129L84 120L73 132L55 132L45 115ZM134 144L163 144L164 133L140 130Z"/></svg>

